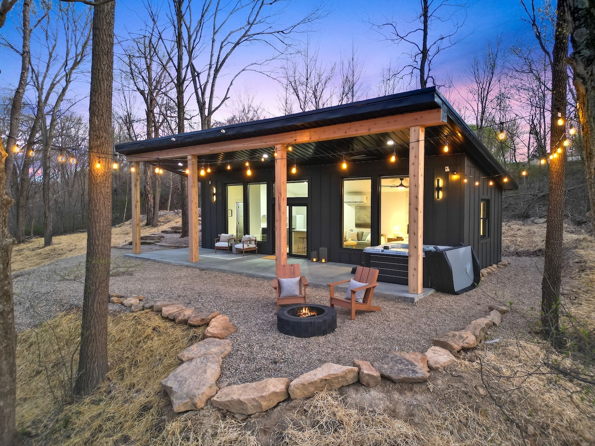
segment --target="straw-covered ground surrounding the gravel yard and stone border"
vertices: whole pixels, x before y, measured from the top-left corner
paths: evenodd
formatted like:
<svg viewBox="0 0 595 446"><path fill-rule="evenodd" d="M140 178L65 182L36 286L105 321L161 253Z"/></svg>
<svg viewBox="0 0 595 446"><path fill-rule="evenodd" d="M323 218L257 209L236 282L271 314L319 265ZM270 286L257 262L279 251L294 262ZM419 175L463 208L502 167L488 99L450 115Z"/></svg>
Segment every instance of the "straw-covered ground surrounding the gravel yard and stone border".
<svg viewBox="0 0 595 446"><path fill-rule="evenodd" d="M160 229L178 224L177 218L164 215ZM539 259L545 228L506 222L503 255ZM155 229L143 227L143 234ZM595 315L595 243L587 229L568 225L564 238L563 322L590 324L572 331L581 345L592 342ZM112 231L114 246L130 238L129 223ZM35 239L15 246L13 274L84 253L86 234L55 237L45 249L41 244ZM494 278L497 282L497 274ZM536 327L534 309L521 316L523 327L527 321ZM513 320L505 315L503 325ZM164 352L182 350L200 338L200 331L143 312L112 315L109 332L108 379L78 401L70 400L68 387L76 370L79 310L18 335L17 423L25 444L595 444L592 386L576 374L556 372L563 365L575 372L592 370L593 344L559 354L540 341L535 329L519 329L464 353L445 372L431 373L425 384L353 385L309 400L284 401L248 419L209 404L185 414L171 411L159 381L177 360Z"/></svg>

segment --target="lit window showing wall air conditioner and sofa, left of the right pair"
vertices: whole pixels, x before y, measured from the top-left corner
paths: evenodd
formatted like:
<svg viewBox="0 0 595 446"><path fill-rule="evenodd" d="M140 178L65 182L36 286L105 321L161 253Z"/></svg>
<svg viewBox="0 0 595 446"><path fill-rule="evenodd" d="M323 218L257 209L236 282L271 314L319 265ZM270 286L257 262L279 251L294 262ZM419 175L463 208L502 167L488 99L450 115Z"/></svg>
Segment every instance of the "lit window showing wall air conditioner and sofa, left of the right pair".
<svg viewBox="0 0 595 446"><path fill-rule="evenodd" d="M364 249L370 246L371 178L343 180L343 247Z"/></svg>

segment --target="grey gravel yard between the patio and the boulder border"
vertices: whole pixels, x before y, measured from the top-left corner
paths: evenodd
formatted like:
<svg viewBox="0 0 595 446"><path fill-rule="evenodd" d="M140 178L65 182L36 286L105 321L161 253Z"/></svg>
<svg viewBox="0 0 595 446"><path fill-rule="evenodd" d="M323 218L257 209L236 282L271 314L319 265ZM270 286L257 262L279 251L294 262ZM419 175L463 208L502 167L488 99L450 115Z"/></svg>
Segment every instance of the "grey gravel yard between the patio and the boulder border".
<svg viewBox="0 0 595 446"><path fill-rule="evenodd" d="M334 333L295 338L277 331L270 279L130 259L124 257L128 252L130 249L112 250L112 293L142 294L151 302L176 300L202 312L217 310L237 326L230 336L233 351L223 360L221 370L220 382L228 384L281 376L295 379L325 362L352 365L353 359L373 361L397 349L423 352L430 347L431 338L485 316L491 303L512 301L515 311L504 315L502 325L491 328L488 338L517 337L531 332L540 305L543 259L508 257L512 262L508 268L488 275L480 287L468 293L434 293L417 304L375 297L381 312L358 312L351 321L349 310L337 307ZM19 331L82 306L83 263L84 256L69 257L15 275ZM328 304L328 290L310 287L308 301ZM114 312L125 309L109 307Z"/></svg>

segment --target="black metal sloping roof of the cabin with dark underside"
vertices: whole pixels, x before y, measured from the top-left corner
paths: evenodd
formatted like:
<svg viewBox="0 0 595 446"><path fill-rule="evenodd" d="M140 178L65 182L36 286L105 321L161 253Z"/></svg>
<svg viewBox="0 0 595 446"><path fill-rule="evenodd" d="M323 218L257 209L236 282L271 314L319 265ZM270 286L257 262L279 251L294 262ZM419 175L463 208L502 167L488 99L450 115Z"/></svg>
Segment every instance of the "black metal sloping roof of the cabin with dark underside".
<svg viewBox="0 0 595 446"><path fill-rule="evenodd" d="M308 130L328 125L355 123L372 118L390 117L411 112L442 109L446 113L447 123L425 129L425 155L441 155L446 140L449 153L466 153L486 175L494 177L503 189L516 189L514 181L504 182L508 172L496 161L489 150L477 139L474 132L465 124L452 106L440 94L436 87L382 96L381 98L361 100L359 102L337 105L329 108L252 121L249 123L226 125L207 130L170 135L155 139L134 141L116 145L115 149L123 155L142 157L143 153L162 150L200 146L209 143L236 141L252 137L271 136L292 131ZM394 145L387 145L393 140ZM288 144L291 142L288 141ZM296 161L300 166L333 164L343 156L348 161L374 161L387 159L393 151L399 158L409 156L409 131L399 130L365 136L327 140L292 145L287 153L288 164ZM273 147L238 150L236 152L199 155L199 165L222 170L229 164L231 168L242 168L246 161L252 165L261 162L264 154L269 155L265 164L273 168ZM146 159L150 164L184 174L186 157Z"/></svg>

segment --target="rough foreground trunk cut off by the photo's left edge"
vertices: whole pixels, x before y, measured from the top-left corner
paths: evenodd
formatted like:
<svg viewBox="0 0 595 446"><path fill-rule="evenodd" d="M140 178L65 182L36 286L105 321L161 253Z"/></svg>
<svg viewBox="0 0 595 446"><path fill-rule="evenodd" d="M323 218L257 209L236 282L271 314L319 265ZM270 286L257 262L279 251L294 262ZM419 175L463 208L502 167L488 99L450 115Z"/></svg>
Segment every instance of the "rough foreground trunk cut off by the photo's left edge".
<svg viewBox="0 0 595 446"><path fill-rule="evenodd" d="M0 165L7 153L0 140ZM17 333L14 326L14 299L10 258L12 237L8 211L12 199L6 192L6 173L0 169L0 445L17 444L15 405L17 398Z"/></svg>

